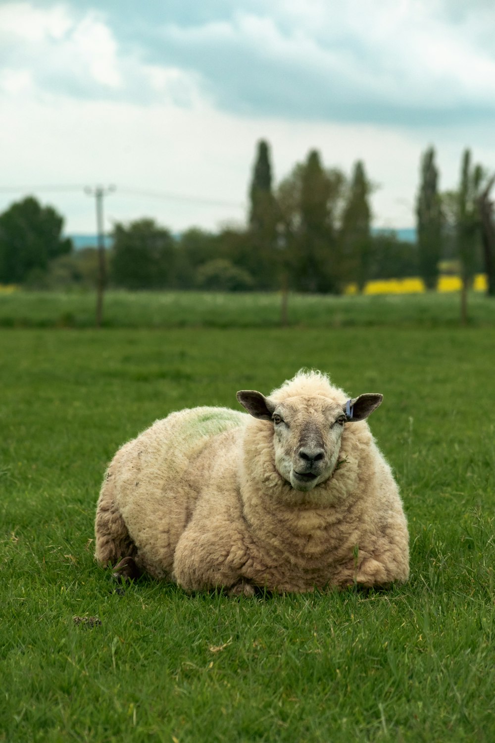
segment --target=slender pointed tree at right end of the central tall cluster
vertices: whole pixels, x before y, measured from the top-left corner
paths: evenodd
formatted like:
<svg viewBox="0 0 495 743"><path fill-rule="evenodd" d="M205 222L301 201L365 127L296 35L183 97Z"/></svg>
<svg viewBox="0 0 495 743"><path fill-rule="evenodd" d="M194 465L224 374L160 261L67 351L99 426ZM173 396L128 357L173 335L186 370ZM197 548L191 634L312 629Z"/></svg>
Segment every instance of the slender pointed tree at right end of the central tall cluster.
<svg viewBox="0 0 495 743"><path fill-rule="evenodd" d="M342 214L341 247L343 262L347 259L349 278L355 280L359 291L363 291L370 278L372 241L369 198L372 189L364 172L364 164L358 160Z"/></svg>

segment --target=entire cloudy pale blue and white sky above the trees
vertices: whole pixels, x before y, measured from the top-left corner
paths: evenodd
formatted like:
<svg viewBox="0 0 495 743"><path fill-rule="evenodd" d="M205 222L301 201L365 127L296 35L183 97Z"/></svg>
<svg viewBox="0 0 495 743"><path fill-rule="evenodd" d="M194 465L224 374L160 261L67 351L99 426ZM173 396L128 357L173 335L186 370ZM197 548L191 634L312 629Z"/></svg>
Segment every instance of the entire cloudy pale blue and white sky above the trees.
<svg viewBox="0 0 495 743"><path fill-rule="evenodd" d="M494 30L492 0L0 0L0 212L94 233L115 186L105 230L242 226L265 139L275 185L361 159L373 225L413 227L428 146L442 190L465 147L495 172Z"/></svg>

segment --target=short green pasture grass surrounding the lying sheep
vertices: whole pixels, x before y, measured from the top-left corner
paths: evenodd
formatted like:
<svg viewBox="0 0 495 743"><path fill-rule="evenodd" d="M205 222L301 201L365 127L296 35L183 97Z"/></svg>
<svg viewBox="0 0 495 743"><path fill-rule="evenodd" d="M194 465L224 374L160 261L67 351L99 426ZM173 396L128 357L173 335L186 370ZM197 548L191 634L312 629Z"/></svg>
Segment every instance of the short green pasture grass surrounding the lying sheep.
<svg viewBox="0 0 495 743"><path fill-rule="evenodd" d="M0 740L495 739L493 331L4 329L0 347ZM301 366L384 394L370 425L401 486L410 582L115 592L91 539L117 447Z"/></svg>

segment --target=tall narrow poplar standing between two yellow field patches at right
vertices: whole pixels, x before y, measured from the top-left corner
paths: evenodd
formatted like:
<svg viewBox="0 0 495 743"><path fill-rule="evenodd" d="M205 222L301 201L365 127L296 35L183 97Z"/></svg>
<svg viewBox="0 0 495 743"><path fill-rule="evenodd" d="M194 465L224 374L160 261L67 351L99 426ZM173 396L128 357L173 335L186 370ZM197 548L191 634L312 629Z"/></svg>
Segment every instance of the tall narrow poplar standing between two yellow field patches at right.
<svg viewBox="0 0 495 743"><path fill-rule="evenodd" d="M435 150L429 147L422 157L421 184L416 203L419 273L427 289L436 288L442 254L442 208L438 181Z"/></svg>

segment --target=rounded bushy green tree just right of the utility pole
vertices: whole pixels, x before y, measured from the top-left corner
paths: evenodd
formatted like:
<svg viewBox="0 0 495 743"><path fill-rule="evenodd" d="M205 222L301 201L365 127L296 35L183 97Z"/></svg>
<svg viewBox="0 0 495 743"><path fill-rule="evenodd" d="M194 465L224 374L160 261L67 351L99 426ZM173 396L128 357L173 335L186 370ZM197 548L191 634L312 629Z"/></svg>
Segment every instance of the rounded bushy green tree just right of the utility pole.
<svg viewBox="0 0 495 743"><path fill-rule="evenodd" d="M153 219L114 226L111 276L126 289L163 289L174 279L174 238Z"/></svg>

